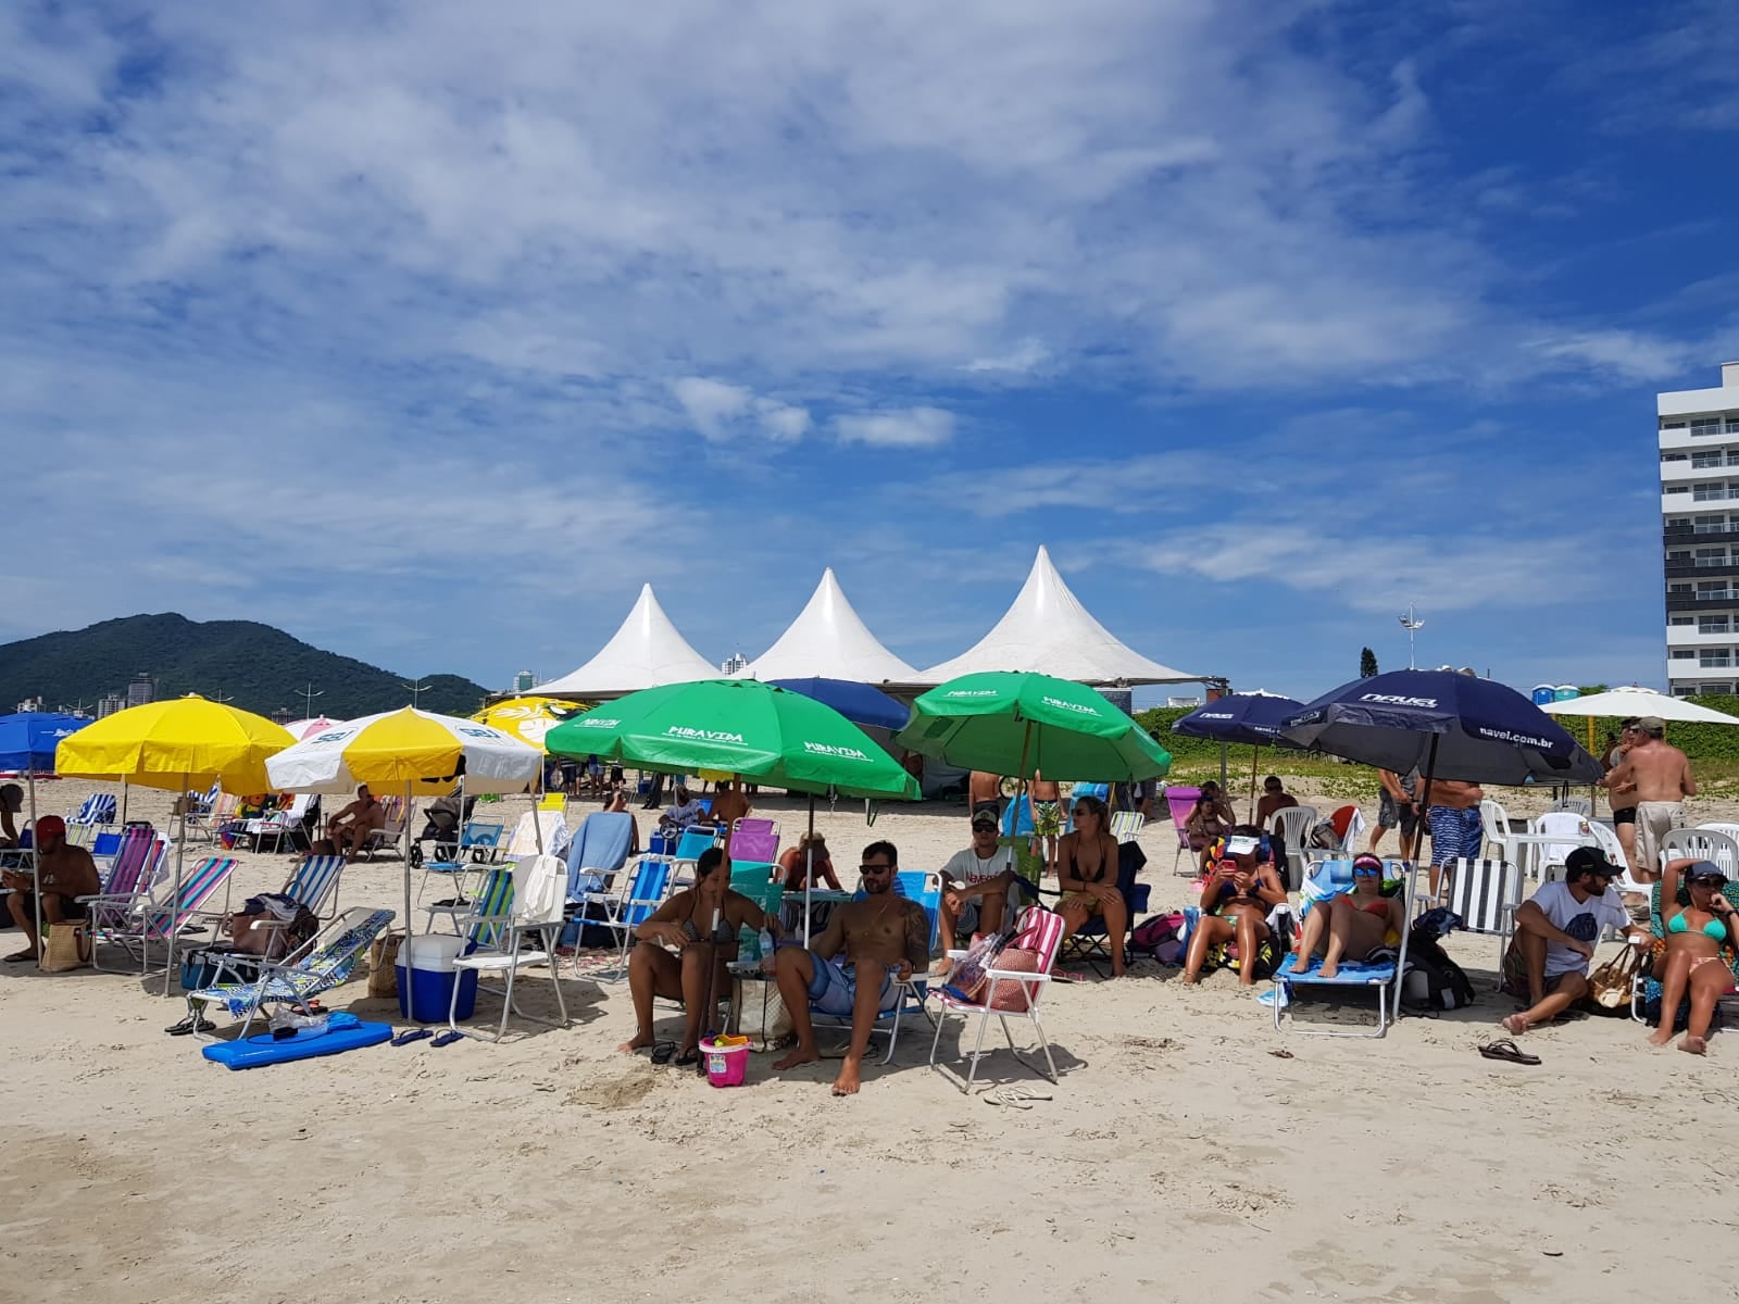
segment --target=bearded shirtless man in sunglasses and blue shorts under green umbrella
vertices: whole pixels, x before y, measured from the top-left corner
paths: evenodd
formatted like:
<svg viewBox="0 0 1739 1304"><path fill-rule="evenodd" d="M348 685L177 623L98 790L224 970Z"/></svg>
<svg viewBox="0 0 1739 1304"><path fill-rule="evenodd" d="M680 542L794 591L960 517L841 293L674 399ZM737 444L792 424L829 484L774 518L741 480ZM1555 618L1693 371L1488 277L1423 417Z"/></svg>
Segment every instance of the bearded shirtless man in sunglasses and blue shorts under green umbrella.
<svg viewBox="0 0 1739 1304"><path fill-rule="evenodd" d="M776 1071L821 1059L809 1007L823 1014L850 1015L852 1045L833 1080L835 1095L856 1095L861 1085L864 1052L878 1014L899 1007L901 988L930 961L930 921L916 901L894 895L894 869L899 852L890 842L864 847L864 899L849 901L833 911L826 930L805 951L781 946L774 963L779 996L791 1012L796 1050L774 1064ZM836 956L845 953L845 965Z"/></svg>

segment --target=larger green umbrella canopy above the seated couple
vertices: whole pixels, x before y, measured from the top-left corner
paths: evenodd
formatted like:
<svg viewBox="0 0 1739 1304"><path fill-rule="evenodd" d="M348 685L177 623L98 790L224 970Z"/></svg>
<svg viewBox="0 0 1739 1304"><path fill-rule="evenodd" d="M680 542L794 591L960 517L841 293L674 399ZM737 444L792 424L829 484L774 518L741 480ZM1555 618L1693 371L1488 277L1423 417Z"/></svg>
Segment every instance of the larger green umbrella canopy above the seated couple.
<svg viewBox="0 0 1739 1304"><path fill-rule="evenodd" d="M544 734L555 756L729 770L769 788L916 800L918 782L831 706L756 680L642 689Z"/></svg>

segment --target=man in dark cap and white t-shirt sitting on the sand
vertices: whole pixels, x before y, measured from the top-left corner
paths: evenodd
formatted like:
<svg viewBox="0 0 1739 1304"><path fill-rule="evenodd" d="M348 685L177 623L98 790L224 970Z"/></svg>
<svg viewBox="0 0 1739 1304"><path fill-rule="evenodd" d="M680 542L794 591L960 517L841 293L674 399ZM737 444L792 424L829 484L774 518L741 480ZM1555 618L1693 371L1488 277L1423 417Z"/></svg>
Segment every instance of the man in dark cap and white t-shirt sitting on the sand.
<svg viewBox="0 0 1739 1304"><path fill-rule="evenodd" d="M1502 988L1529 1007L1504 1019L1506 1033L1551 1022L1588 995L1588 965L1602 928L1622 928L1647 941L1649 930L1631 923L1612 887L1621 873L1605 852L1577 847L1563 862L1563 882L1541 883L1516 909Z"/></svg>

